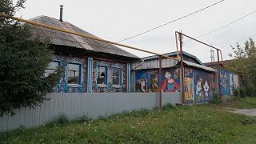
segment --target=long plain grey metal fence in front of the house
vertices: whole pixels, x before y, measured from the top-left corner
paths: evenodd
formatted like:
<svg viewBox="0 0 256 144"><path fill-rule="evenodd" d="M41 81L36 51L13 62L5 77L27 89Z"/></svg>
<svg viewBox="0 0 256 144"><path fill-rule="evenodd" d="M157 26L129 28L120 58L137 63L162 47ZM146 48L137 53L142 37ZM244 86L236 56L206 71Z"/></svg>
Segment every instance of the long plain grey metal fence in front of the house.
<svg viewBox="0 0 256 144"><path fill-rule="evenodd" d="M23 107L13 116L0 117L0 131L41 126L60 115L70 120L82 116L98 118L158 106L158 93L50 93L46 98L50 100L34 109ZM181 103L180 92L162 93L162 105L167 103Z"/></svg>

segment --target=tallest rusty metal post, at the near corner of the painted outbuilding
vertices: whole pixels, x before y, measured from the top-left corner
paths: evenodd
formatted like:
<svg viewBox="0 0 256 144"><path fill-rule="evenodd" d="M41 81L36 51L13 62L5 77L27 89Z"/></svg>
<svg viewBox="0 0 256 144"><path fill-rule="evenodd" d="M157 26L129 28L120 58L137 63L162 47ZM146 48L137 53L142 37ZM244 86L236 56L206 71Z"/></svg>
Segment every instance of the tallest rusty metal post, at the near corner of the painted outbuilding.
<svg viewBox="0 0 256 144"><path fill-rule="evenodd" d="M183 53L182 53L182 33L178 33L179 36L179 49L181 53L181 78L182 78L182 103L185 103L185 90L184 90L184 64L183 64Z"/></svg>

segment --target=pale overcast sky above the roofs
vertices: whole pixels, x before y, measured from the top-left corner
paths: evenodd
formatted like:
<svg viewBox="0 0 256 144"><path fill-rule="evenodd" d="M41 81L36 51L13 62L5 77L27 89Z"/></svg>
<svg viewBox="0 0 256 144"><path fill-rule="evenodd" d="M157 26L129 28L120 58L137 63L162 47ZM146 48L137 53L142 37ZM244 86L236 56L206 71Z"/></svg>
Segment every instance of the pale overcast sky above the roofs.
<svg viewBox="0 0 256 144"><path fill-rule="evenodd" d="M100 38L118 42L218 1L220 0L26 0L26 9L20 10L17 16L26 19L38 15L59 18L59 5L62 4L64 21ZM176 50L174 41L176 30L198 37L242 18L254 10L256 10L255 0L225 0L198 14L122 43L157 53L168 53ZM232 52L230 45L235 46L236 42L243 44L248 38L256 38L255 26L256 14L251 14L239 22L198 39L222 49L223 59L230 59L228 56ZM210 62L209 47L188 41L184 43L184 50L194 54L202 62ZM134 50L128 51L139 57L150 55Z"/></svg>

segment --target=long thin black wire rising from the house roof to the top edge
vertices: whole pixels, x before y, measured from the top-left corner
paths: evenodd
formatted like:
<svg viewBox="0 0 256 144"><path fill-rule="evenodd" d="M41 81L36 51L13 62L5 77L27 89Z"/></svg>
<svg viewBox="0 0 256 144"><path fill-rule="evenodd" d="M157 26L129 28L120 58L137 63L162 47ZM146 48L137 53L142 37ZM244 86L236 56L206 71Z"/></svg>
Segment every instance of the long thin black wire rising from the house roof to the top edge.
<svg viewBox="0 0 256 144"><path fill-rule="evenodd" d="M142 32L142 33L140 33L140 34L136 34L136 35L134 35L134 36L131 36L130 38L123 39L122 41L119 41L119 42L124 42L124 41L126 41L126 40L128 40L128 39L136 38L136 37L138 37L138 36L140 36L140 35L142 35L142 34L149 33L150 31L156 30L156 29L158 29L158 28L160 28L160 27L162 27L162 26L166 26L166 25L168 25L168 24L170 24L170 23L173 23L173 22L176 22L176 21L181 20L181 19L183 19L183 18L189 17L189 16L191 16L191 15L193 15L193 14L197 14L198 12L201 12L202 10L206 10L206 9L210 8L211 6L215 6L215 5L217 5L218 3L223 2L223 1L224 1L224 0L219 1L219 2L216 2L216 3L214 3L214 4L210 5L210 6L206 6L206 7L202 8L202 9L200 9L200 10L194 11L193 13L186 14L186 15L182 16L181 18L177 18L177 19L174 19L174 20L172 20L172 21L170 21L170 22L166 22L166 23L164 23L164 24L162 24L162 25L160 25L160 26L156 26L156 27L154 27L154 28L152 28L152 29L150 29L150 30L146 30L146 31L144 31L144 32Z"/></svg>

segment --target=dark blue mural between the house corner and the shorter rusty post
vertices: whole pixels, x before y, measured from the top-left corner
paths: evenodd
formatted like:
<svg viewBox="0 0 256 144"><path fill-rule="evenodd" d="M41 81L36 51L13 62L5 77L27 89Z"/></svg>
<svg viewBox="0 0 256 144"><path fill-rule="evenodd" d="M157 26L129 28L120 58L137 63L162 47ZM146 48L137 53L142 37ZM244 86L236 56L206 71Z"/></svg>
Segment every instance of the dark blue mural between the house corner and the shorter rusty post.
<svg viewBox="0 0 256 144"><path fill-rule="evenodd" d="M138 70L135 74L136 92L158 91L158 70Z"/></svg>

